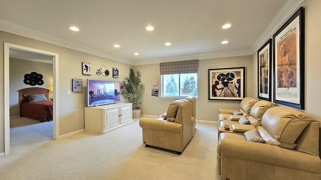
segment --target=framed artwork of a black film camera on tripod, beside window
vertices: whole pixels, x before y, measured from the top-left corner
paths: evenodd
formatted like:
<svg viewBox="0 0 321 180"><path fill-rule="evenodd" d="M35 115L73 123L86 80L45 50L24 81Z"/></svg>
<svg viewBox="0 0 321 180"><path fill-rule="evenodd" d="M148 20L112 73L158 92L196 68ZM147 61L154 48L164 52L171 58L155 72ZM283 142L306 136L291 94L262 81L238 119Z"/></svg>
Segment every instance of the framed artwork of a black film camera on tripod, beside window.
<svg viewBox="0 0 321 180"><path fill-rule="evenodd" d="M245 97L245 67L208 69L208 100L236 100Z"/></svg>

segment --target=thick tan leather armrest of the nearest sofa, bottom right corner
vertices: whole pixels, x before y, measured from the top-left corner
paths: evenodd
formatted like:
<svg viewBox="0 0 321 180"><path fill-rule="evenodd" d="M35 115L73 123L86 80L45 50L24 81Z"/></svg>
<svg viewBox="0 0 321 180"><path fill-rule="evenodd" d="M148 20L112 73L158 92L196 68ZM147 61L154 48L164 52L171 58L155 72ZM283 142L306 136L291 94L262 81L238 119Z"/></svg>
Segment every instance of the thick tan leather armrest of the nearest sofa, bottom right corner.
<svg viewBox="0 0 321 180"><path fill-rule="evenodd" d="M318 156L297 150L234 139L229 136L225 137L224 135L221 135L219 147L221 148L220 153L222 159L224 159L224 157L231 157L232 159L242 159L307 172L321 173L321 160Z"/></svg>

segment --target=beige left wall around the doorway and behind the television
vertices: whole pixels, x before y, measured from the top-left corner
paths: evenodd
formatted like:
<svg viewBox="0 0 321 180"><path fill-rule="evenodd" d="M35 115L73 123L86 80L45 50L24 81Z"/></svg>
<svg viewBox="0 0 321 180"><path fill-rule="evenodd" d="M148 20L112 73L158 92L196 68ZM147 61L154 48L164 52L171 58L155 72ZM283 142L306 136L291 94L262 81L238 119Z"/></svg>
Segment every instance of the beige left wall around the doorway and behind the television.
<svg viewBox="0 0 321 180"><path fill-rule="evenodd" d="M122 81L122 77L128 74L129 64L110 60L100 56L69 49L51 43L27 38L24 36L0 31L0 63L4 64L4 42L23 45L31 48L41 49L59 54L59 135L74 132L84 128L84 106L86 106L87 78L108 79ZM90 76L82 75L82 62L91 62L93 73ZM112 67L119 69L119 78L96 75L96 70L101 65L105 65L111 72ZM4 71L4 70L2 70ZM67 90L72 88L72 78L83 79L83 92L71 92L67 95ZM0 153L5 151L5 131L4 131L4 74L0 73ZM121 98L121 101L124 101Z"/></svg>

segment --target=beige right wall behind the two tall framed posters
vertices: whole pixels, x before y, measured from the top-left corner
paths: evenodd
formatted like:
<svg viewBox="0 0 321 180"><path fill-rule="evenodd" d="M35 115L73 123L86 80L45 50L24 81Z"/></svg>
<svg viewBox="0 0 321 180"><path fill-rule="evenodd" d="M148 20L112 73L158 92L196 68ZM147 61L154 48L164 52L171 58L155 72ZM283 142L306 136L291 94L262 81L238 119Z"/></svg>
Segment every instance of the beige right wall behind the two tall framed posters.
<svg viewBox="0 0 321 180"><path fill-rule="evenodd" d="M321 0L305 0L301 6L305 11L305 68L304 68L304 102L305 109L302 110L315 119L321 121L320 105L321 102L321 56L320 56L320 31L321 21L317 20L321 17ZM277 29L275 29L276 31ZM270 38L273 38L271 34ZM257 47L258 49L259 47ZM253 72L257 74L257 53L252 55ZM303 77L303 76L302 76ZM257 97L257 76L253 78L252 91ZM273 91L272 91L273 93ZM272 96L273 100L273 96ZM277 104L283 106L281 104Z"/></svg>

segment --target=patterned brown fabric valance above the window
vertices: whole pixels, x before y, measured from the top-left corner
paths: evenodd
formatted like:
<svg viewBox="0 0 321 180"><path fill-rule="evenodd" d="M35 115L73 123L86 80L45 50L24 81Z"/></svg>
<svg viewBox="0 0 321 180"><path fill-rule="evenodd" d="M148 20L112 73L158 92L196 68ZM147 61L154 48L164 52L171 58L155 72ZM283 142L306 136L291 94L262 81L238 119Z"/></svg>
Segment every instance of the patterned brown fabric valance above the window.
<svg viewBox="0 0 321 180"><path fill-rule="evenodd" d="M178 74L178 73L197 73L199 60L182 60L174 62L161 62L159 70L163 74Z"/></svg>

